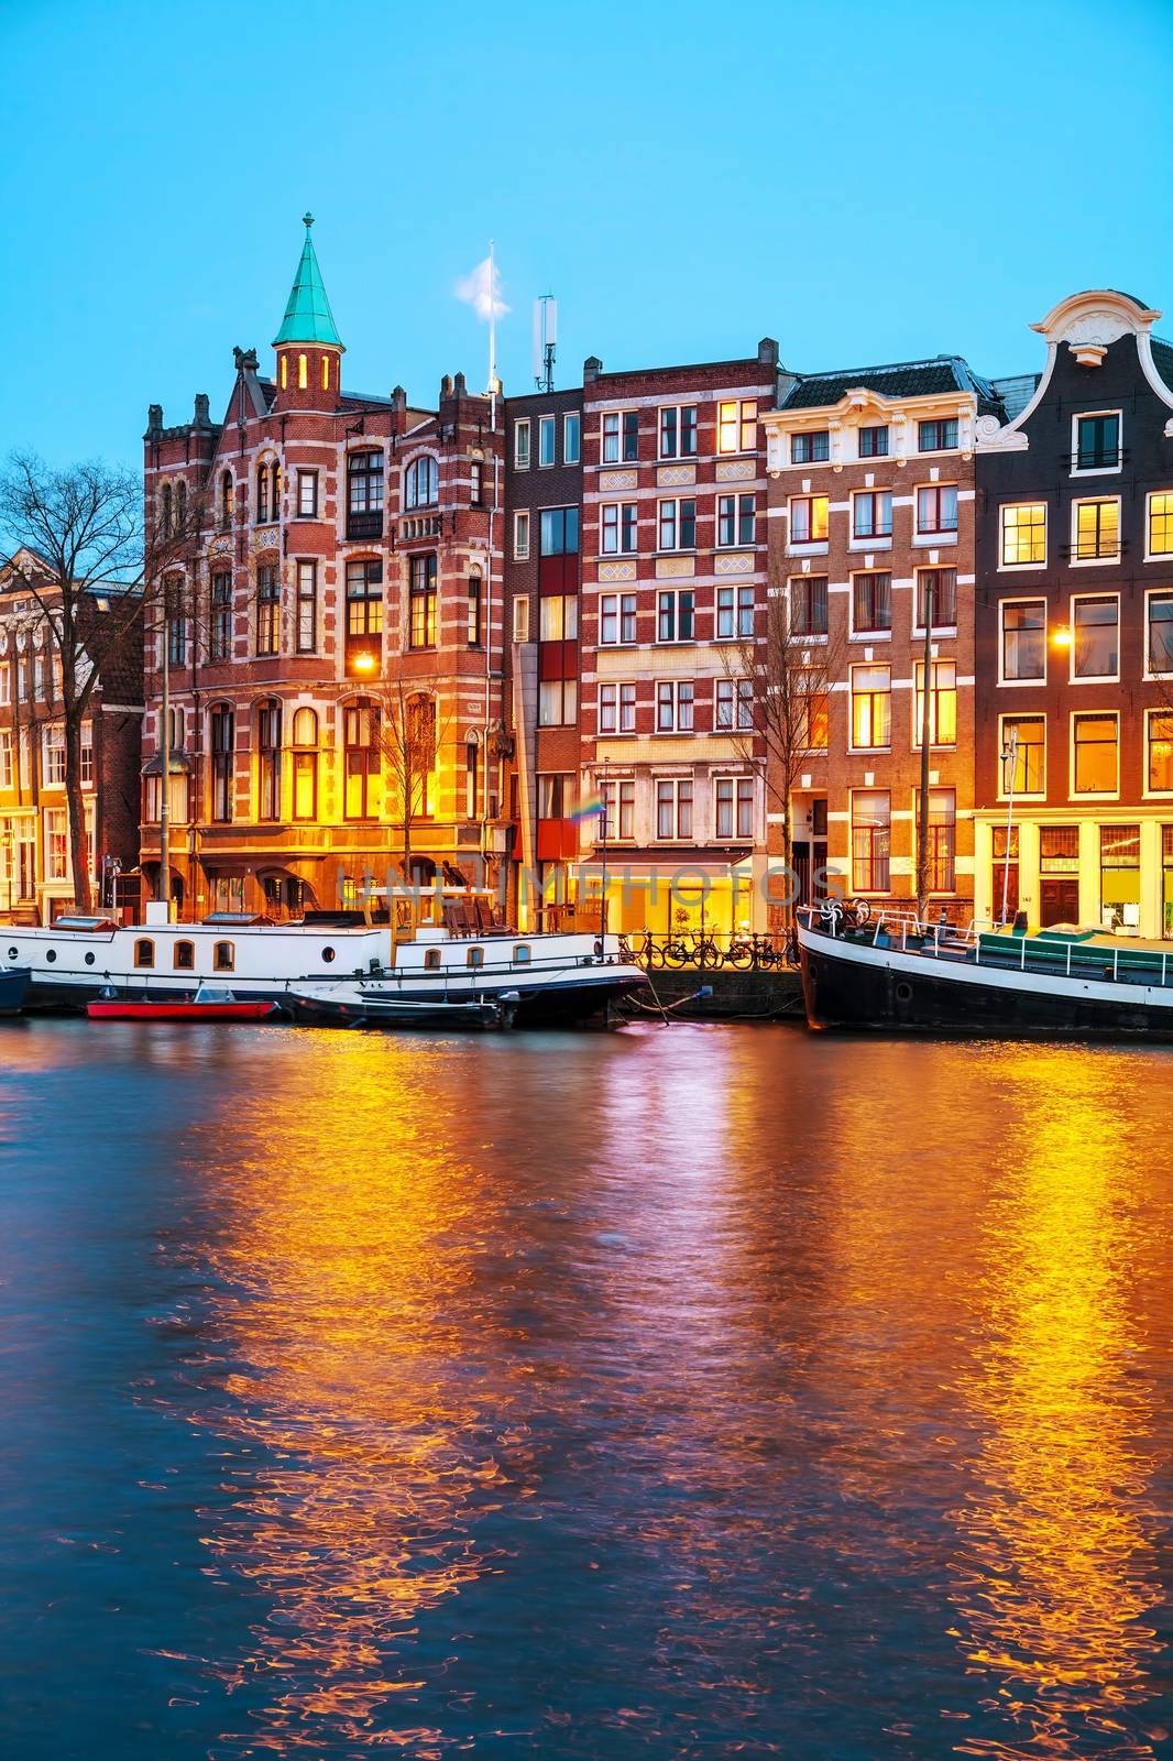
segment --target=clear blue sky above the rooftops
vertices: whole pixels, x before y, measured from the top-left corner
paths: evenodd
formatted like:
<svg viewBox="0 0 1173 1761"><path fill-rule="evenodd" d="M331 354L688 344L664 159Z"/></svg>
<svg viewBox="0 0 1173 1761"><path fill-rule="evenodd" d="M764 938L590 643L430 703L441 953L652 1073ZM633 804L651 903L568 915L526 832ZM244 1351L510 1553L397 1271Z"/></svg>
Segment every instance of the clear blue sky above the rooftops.
<svg viewBox="0 0 1173 1761"><path fill-rule="evenodd" d="M562 386L763 335L1022 372L1080 287L1173 308L1173 0L0 0L0 453L137 467L150 402L218 412L306 208L343 382L419 403L484 382L490 234L511 391L548 289Z"/></svg>

